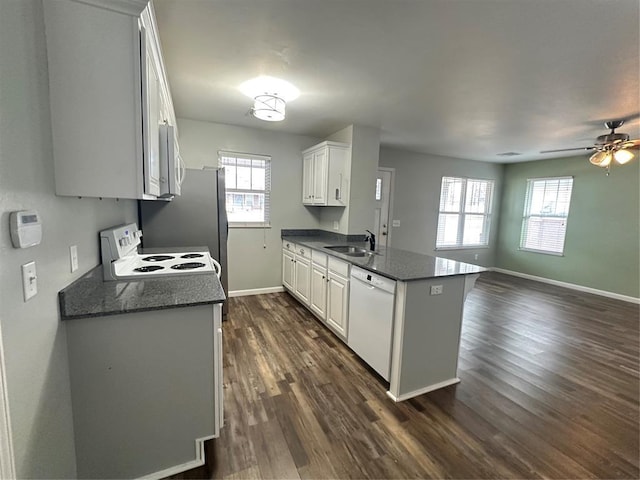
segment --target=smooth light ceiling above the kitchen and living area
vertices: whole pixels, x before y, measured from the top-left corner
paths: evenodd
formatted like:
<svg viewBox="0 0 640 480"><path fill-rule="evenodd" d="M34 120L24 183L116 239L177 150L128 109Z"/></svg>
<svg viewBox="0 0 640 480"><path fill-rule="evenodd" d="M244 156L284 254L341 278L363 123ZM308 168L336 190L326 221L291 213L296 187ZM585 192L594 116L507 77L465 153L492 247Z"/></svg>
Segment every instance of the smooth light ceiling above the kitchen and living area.
<svg viewBox="0 0 640 480"><path fill-rule="evenodd" d="M180 118L320 138L366 125L384 146L499 163L591 146L605 120L640 137L638 0L154 6ZM300 89L283 122L247 114L238 86L258 75Z"/></svg>

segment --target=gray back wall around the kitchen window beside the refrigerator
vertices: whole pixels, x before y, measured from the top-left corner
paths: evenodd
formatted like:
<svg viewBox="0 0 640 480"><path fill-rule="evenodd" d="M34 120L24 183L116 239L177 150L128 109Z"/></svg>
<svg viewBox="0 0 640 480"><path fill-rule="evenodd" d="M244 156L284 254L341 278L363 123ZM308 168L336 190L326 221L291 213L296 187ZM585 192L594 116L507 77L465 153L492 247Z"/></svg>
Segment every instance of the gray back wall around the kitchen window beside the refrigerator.
<svg viewBox="0 0 640 480"><path fill-rule="evenodd" d="M217 166L218 150L271 156L271 228L230 229L229 290L282 285L280 229L320 226L318 207L302 205L301 152L322 140L184 118L178 128L189 168Z"/></svg>

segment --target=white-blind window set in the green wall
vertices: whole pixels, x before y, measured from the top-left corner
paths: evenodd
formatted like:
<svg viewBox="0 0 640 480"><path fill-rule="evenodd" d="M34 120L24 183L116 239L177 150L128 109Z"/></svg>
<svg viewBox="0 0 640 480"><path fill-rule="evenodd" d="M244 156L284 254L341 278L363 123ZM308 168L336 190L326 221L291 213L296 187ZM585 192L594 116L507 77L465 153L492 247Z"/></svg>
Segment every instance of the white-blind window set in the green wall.
<svg viewBox="0 0 640 480"><path fill-rule="evenodd" d="M571 202L572 177L527 180L520 248L562 255Z"/></svg>

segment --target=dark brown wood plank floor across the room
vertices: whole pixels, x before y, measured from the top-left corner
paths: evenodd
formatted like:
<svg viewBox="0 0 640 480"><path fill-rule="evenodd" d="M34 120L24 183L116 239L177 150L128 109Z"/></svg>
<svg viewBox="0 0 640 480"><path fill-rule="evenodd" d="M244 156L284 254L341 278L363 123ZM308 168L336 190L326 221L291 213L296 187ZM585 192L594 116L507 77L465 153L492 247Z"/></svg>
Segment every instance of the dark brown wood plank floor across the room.
<svg viewBox="0 0 640 480"><path fill-rule="evenodd" d="M286 293L232 298L225 421L174 478L638 478L638 305L498 273L461 383L395 404Z"/></svg>

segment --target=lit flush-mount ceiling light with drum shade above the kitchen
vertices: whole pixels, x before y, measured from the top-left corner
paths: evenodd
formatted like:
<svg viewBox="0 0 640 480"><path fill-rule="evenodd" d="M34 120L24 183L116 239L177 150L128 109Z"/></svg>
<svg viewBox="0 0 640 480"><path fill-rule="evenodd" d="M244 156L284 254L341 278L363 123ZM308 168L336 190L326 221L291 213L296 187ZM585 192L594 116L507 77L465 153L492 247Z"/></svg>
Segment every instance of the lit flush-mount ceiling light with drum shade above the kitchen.
<svg viewBox="0 0 640 480"><path fill-rule="evenodd" d="M247 80L238 88L253 99L251 114L267 122L284 120L287 102L300 95L300 91L286 80L265 75Z"/></svg>

